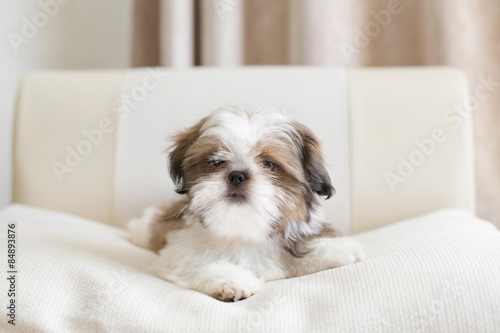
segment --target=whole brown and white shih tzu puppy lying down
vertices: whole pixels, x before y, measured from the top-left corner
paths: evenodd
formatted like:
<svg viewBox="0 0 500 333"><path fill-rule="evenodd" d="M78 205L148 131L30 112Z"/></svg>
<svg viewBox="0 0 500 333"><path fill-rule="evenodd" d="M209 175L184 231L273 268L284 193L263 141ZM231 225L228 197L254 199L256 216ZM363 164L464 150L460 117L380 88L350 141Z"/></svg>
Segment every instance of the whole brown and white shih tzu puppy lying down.
<svg viewBox="0 0 500 333"><path fill-rule="evenodd" d="M134 243L159 251L165 280L238 301L363 257L317 215L335 193L317 138L277 111L216 110L175 137L169 168L184 198L129 223Z"/></svg>

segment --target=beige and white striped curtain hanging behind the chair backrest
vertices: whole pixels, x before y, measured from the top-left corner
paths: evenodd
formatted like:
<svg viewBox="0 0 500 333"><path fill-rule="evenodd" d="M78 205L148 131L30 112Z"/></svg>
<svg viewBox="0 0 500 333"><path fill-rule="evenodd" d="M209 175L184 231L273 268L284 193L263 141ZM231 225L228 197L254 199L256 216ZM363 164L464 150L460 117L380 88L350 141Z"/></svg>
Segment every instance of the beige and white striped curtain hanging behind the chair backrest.
<svg viewBox="0 0 500 333"><path fill-rule="evenodd" d="M500 1L136 0L133 49L136 66L461 68L477 210L500 226ZM488 96L478 95L480 85Z"/></svg>

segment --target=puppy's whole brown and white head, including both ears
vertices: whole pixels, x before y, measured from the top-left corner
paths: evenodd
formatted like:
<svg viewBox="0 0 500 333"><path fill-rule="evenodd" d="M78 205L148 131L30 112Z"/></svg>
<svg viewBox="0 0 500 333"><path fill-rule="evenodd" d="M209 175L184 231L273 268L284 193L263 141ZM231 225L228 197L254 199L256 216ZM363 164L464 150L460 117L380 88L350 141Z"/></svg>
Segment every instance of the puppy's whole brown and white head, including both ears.
<svg viewBox="0 0 500 333"><path fill-rule="evenodd" d="M169 159L188 213L228 239L264 241L334 193L317 139L276 111L216 110L177 135Z"/></svg>

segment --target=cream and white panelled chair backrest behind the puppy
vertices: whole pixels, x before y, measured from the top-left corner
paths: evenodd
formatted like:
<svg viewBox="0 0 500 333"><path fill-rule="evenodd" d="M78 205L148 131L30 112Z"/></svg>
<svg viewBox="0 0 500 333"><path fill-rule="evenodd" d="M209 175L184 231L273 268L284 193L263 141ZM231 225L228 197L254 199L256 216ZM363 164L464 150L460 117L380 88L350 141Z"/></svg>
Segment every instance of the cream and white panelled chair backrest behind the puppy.
<svg viewBox="0 0 500 333"><path fill-rule="evenodd" d="M446 207L474 210L467 96L450 68L47 71L17 109L14 201L123 225L176 197L165 148L215 108L275 108L320 138L344 233Z"/></svg>

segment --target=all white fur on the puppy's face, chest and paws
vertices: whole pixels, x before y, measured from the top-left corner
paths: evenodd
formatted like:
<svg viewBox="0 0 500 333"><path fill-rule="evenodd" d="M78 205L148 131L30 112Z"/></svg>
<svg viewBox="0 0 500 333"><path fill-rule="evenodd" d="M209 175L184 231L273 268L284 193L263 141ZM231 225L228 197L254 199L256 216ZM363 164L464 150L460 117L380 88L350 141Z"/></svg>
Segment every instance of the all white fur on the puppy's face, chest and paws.
<svg viewBox="0 0 500 333"><path fill-rule="evenodd" d="M264 141L273 142L280 149L299 149L291 146L291 134L296 135L295 131L290 119L278 112L250 114L226 107L207 119L201 138L217 138L221 145L210 159L225 164L220 171L203 175L190 189L184 215L186 226L167 235L167 246L155 263L160 277L221 300L237 301L256 293L264 281L314 273L362 259L362 245L352 238L316 239L307 243L309 252L305 257L296 258L284 249L283 239L273 235L283 205L293 207L295 197L274 185L269 172L257 162L259 152L254 147ZM297 166L291 173L303 177L299 158L291 162ZM227 198L227 174L232 170L251 174L243 202ZM315 212L310 213L310 221L287 225L285 240L301 240L321 232L321 220ZM149 224L155 222L156 214L150 208L140 219L131 221L134 243L148 246Z"/></svg>

